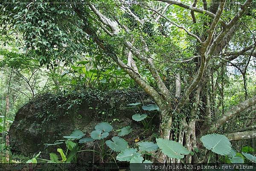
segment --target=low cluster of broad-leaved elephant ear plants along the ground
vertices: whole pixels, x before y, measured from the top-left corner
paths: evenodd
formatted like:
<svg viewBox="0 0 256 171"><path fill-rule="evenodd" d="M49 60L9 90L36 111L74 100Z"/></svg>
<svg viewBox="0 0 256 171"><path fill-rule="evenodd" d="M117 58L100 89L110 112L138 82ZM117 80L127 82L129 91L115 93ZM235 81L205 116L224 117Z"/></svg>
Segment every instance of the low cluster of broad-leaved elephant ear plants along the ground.
<svg viewBox="0 0 256 171"><path fill-rule="evenodd" d="M133 116L133 118L134 120L138 119L137 115ZM131 171L135 171L138 169L140 163L152 165L152 162L147 159L147 156L154 156L154 152L159 150L170 158L181 159L181 162L183 162L182 159L185 155L194 155L194 152L198 153L198 149L194 149L194 152L189 151L178 142L162 138L157 138L156 143L146 141L138 142L137 145L129 147L128 142L120 136L125 136L131 133L132 129L130 126L121 128L118 136L113 136L111 139L105 141L105 139L108 138L112 130L112 125L107 122L101 122L97 124L95 126L95 130L90 133L90 137L84 137L85 134L82 133L81 130L75 130L69 136L64 136L64 138L66 138L67 140L58 140L54 144L46 144L59 145L65 142L67 151L62 150L61 148L57 149L58 153L61 156L61 159L59 159L57 154L50 153L50 160L42 160L46 160L47 162L51 163L68 163L71 161L76 162L76 157L79 152L91 151L93 153L99 154L102 162L105 161L105 158L107 156L109 156L110 159L112 158L115 163L117 163L116 160L120 162L130 162ZM100 151L90 149L81 150L81 147L79 147L79 144L85 144L95 140L101 141L101 144L99 145ZM227 156L228 163L243 163L244 157L251 162L256 162L255 157L251 154L245 152L242 152L242 154L236 153L236 151L231 148L229 139L227 139L227 137L224 135L215 133L208 134L201 137L201 142L203 143L205 148L212 151L213 153ZM105 149L105 145L108 147L107 149ZM111 155L113 153L117 154L116 158ZM36 159L38 159L39 155L40 153L28 162L36 163Z"/></svg>

